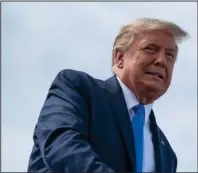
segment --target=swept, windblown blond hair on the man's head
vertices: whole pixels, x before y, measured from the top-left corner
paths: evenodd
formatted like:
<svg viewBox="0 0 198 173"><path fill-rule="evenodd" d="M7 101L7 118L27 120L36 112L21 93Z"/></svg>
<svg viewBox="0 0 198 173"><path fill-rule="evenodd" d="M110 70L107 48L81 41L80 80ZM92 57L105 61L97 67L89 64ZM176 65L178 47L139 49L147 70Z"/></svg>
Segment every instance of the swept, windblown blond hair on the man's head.
<svg viewBox="0 0 198 173"><path fill-rule="evenodd" d="M168 31L174 37L176 43L181 43L185 38L189 37L188 33L175 23L159 19L140 18L121 27L120 32L115 38L112 53L114 54L116 49L125 52L132 44L136 35L152 30ZM114 58L112 57L113 65Z"/></svg>

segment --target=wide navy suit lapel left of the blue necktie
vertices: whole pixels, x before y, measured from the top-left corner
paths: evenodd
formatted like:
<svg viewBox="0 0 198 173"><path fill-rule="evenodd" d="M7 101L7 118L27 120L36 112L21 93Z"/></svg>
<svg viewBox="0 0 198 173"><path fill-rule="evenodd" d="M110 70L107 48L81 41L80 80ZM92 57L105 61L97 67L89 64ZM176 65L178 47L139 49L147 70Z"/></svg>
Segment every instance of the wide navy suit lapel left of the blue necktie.
<svg viewBox="0 0 198 173"><path fill-rule="evenodd" d="M133 132L130 122L129 113L127 106L122 94L121 87L113 76L105 81L106 96L113 110L114 116L117 120L118 126L124 137L124 141L129 152L129 157L131 159L131 166L133 171L136 170L136 156L135 156L135 146L133 141Z"/></svg>

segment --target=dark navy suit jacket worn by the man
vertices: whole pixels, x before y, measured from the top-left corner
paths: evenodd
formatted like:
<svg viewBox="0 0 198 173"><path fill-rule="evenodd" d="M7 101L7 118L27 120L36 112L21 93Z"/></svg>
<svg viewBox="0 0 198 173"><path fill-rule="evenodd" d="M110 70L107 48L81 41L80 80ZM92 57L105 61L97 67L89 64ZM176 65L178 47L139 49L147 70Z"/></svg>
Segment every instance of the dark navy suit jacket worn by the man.
<svg viewBox="0 0 198 173"><path fill-rule="evenodd" d="M175 172L177 158L156 124L150 129L157 172ZM61 71L53 81L34 130L28 172L135 172L128 110L115 76L106 81Z"/></svg>

